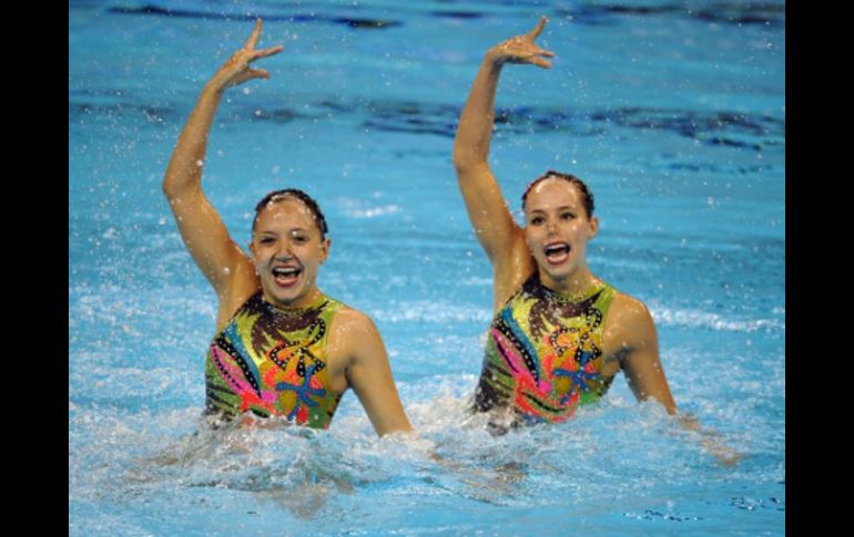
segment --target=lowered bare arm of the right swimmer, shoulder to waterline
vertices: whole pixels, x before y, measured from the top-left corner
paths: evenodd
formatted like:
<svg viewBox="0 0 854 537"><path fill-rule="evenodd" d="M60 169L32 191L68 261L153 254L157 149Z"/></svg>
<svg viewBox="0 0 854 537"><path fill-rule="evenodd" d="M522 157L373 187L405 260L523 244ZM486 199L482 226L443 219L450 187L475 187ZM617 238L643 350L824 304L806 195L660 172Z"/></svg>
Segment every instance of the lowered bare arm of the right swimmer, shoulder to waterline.
<svg viewBox="0 0 854 537"><path fill-rule="evenodd" d="M609 337L620 347L620 365L629 388L638 401L654 399L674 414L677 404L661 365L652 316L641 301L624 295L614 298L611 308Z"/></svg>

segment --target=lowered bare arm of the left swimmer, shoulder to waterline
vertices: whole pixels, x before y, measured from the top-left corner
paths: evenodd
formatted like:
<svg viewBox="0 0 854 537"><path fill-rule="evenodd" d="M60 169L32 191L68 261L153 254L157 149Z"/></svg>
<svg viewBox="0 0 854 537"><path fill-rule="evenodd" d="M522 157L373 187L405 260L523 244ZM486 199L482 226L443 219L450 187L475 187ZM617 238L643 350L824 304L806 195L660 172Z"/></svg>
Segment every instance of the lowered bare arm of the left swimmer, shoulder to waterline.
<svg viewBox="0 0 854 537"><path fill-rule="evenodd" d="M356 310L342 311L337 317L342 316L340 321L336 318L335 333L337 338L343 338L342 347L349 357L347 381L374 430L380 436L411 431L376 326L370 318Z"/></svg>

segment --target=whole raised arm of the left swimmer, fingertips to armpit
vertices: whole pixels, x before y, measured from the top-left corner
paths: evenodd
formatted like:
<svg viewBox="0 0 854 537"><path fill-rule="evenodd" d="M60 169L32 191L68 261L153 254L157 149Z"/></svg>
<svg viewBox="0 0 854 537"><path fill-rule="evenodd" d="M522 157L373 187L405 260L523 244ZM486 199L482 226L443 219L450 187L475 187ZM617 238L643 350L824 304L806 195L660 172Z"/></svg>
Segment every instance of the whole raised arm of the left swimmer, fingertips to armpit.
<svg viewBox="0 0 854 537"><path fill-rule="evenodd" d="M268 79L270 73L250 63L277 54L284 48L255 50L261 35L261 19L246 44L205 84L202 95L184 125L163 178L163 193L175 216L181 237L193 260L216 290L222 303L235 275L253 273L252 264L232 240L228 230L202 190L202 169L207 136L223 92L252 79Z"/></svg>

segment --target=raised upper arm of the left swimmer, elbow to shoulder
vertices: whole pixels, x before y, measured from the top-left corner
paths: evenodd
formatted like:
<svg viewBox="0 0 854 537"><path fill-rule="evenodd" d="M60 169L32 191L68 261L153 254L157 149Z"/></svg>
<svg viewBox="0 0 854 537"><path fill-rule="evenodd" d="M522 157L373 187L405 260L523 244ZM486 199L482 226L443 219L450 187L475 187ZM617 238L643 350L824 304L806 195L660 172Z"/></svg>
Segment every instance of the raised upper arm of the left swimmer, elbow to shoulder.
<svg viewBox="0 0 854 537"><path fill-rule="evenodd" d="M222 302L230 295L234 279L246 273L252 262L232 240L201 186L191 185L170 190L164 188L164 194L184 245Z"/></svg>

